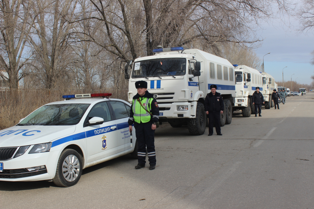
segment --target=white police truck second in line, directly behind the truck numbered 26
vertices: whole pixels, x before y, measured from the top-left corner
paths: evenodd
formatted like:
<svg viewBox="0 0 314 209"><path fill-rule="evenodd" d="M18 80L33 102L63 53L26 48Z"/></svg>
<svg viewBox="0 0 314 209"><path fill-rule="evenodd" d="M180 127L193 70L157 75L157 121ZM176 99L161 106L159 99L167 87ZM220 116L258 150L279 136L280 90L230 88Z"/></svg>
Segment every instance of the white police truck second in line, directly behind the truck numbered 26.
<svg viewBox="0 0 314 209"><path fill-rule="evenodd" d="M254 113L254 105L251 96L253 95L256 87L263 92L263 83L266 84L263 75L246 65L235 66L235 79L236 79L236 99L235 106L232 107L233 111L242 110L243 117L250 117Z"/></svg>

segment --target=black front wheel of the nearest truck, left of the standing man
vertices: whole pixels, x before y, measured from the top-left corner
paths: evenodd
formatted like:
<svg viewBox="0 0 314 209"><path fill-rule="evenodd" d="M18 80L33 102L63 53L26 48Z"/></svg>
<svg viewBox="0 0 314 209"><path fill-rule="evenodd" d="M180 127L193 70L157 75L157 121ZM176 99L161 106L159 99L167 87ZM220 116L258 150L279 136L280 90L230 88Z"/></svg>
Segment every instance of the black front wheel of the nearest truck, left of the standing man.
<svg viewBox="0 0 314 209"><path fill-rule="evenodd" d="M206 112L202 103L197 103L196 117L188 120L187 128L192 135L202 135L205 132Z"/></svg>

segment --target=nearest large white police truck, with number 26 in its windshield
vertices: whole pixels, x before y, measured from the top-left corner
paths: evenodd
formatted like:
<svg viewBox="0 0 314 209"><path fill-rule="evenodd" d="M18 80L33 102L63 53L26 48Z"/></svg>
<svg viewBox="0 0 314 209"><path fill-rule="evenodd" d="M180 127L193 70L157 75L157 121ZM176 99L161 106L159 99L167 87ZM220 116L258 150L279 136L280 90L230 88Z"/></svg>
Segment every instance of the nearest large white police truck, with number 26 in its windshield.
<svg viewBox="0 0 314 209"><path fill-rule="evenodd" d="M187 123L192 135L201 135L207 123L204 98L210 92L210 85L215 84L225 102L221 126L231 123L236 90L234 66L228 60L183 47L159 48L153 52L152 56L134 60L131 76L128 74L130 62L126 65L129 102L137 93L134 83L147 81L147 90L159 105L159 121L167 121L172 127Z"/></svg>

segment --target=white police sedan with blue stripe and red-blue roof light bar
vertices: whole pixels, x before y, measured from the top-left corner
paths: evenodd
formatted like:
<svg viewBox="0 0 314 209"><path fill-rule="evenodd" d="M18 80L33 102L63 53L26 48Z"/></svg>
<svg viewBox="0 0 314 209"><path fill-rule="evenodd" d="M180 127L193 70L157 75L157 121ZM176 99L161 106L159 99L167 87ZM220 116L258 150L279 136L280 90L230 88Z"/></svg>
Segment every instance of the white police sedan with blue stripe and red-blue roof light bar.
<svg viewBox="0 0 314 209"><path fill-rule="evenodd" d="M135 130L131 134L127 123L131 106L109 96L64 95L0 131L0 180L68 187L84 168L128 153L137 158Z"/></svg>

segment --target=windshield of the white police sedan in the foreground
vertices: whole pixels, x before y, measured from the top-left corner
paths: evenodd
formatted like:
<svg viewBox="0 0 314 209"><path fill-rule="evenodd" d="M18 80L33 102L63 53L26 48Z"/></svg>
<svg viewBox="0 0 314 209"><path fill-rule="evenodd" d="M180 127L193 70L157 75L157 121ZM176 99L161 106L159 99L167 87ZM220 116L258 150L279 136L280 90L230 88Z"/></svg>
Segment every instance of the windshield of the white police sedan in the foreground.
<svg viewBox="0 0 314 209"><path fill-rule="evenodd" d="M70 126L77 124L90 104L45 105L24 118L20 126Z"/></svg>

